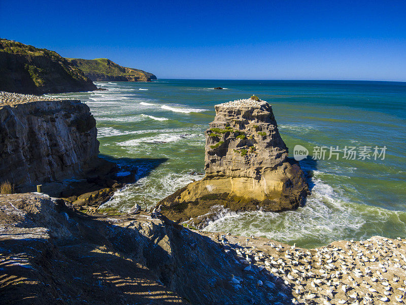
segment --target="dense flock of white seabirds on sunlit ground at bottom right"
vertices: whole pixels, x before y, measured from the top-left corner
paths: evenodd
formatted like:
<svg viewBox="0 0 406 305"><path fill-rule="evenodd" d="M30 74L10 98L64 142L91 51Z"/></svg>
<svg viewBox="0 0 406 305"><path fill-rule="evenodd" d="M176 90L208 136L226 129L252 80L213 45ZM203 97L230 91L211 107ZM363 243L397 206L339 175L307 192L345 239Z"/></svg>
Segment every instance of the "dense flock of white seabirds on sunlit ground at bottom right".
<svg viewBox="0 0 406 305"><path fill-rule="evenodd" d="M243 272L269 272L281 278L291 288L293 304L406 302L405 239L374 236L307 250L263 238L231 238L240 240L230 243L221 235L219 242L232 250ZM244 280L232 276L230 283L242 285ZM257 286L261 288L260 280Z"/></svg>

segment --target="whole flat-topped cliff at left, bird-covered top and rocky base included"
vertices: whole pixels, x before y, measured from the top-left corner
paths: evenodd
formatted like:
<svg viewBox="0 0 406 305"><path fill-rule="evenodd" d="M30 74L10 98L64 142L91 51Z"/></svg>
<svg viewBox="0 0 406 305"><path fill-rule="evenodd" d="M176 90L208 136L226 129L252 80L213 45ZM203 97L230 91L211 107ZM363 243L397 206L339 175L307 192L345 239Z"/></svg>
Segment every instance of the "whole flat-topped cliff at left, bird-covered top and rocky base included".
<svg viewBox="0 0 406 305"><path fill-rule="evenodd" d="M51 196L98 206L133 182L137 169L99 158L96 135L96 121L79 100L0 92L0 182L19 193L42 185Z"/></svg>

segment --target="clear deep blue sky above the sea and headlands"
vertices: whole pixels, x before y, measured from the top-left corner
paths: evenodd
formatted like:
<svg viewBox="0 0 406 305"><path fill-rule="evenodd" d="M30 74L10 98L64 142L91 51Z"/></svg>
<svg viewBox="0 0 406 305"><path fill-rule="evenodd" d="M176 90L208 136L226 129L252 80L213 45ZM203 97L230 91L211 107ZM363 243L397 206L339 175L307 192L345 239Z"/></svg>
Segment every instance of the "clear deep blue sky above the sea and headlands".
<svg viewBox="0 0 406 305"><path fill-rule="evenodd" d="M406 81L404 0L0 0L0 37L158 78Z"/></svg>

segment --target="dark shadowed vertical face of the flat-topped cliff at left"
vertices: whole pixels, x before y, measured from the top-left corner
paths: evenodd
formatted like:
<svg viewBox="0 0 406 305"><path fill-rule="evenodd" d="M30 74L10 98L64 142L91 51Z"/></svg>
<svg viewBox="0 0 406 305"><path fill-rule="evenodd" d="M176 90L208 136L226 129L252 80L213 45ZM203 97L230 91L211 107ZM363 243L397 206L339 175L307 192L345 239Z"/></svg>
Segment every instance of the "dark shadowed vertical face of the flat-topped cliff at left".
<svg viewBox="0 0 406 305"><path fill-rule="evenodd" d="M89 107L78 100L0 106L0 181L72 178L97 157L96 134Z"/></svg>

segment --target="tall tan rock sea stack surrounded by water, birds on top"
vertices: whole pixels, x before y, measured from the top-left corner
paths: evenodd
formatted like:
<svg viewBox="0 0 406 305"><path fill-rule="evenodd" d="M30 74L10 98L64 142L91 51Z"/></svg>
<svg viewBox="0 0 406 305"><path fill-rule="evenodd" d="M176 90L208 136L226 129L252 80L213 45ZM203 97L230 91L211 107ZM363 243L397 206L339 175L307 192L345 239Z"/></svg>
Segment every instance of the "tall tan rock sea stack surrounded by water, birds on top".
<svg viewBox="0 0 406 305"><path fill-rule="evenodd" d="M164 213L177 221L206 215L197 221L201 227L216 213L213 207L283 211L303 203L309 187L288 158L272 106L253 96L215 109L206 131L206 176L163 199Z"/></svg>

